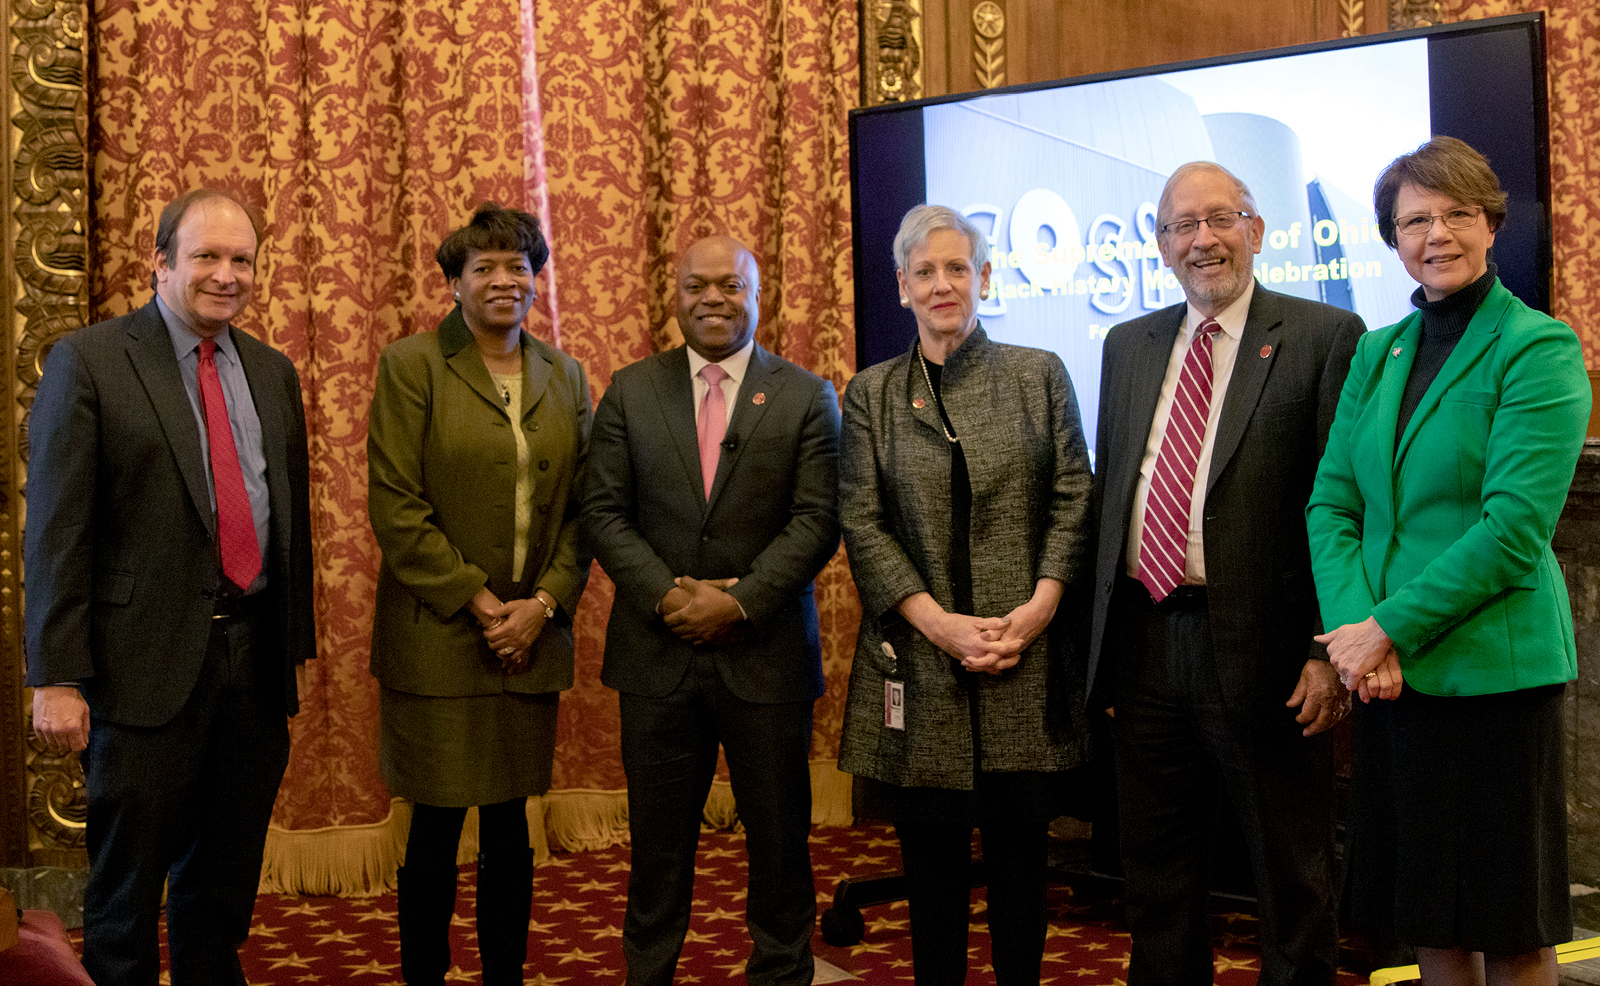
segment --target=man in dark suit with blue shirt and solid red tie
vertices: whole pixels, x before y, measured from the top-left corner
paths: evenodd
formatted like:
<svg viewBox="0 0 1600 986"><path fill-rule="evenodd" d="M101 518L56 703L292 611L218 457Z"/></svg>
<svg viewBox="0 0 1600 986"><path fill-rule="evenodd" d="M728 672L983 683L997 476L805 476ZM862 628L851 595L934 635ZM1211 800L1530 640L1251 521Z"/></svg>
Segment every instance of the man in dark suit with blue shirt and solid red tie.
<svg viewBox="0 0 1600 986"><path fill-rule="evenodd" d="M229 325L256 243L222 192L171 202L155 298L56 343L34 400L27 683L46 749L85 751L101 986L155 986L163 884L173 986L245 983L314 650L299 378Z"/></svg>

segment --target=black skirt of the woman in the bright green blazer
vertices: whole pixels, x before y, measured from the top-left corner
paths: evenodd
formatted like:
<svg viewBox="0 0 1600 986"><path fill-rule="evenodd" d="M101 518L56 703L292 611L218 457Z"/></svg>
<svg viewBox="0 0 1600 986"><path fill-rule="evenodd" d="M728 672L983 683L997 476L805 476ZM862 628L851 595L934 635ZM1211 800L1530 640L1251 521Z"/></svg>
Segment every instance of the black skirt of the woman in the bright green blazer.
<svg viewBox="0 0 1600 986"><path fill-rule="evenodd" d="M1357 703L1346 861L1358 927L1493 954L1571 940L1565 688Z"/></svg>

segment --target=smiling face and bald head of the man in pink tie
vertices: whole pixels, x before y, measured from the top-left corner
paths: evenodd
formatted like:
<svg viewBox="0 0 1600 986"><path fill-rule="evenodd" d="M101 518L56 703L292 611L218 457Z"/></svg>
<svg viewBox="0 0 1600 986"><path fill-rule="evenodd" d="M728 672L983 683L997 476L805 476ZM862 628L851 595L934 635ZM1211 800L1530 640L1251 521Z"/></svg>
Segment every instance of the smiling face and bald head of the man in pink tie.
<svg viewBox="0 0 1600 986"><path fill-rule="evenodd" d="M707 237L678 263L678 328L690 349L714 363L749 344L760 303L755 258L738 240Z"/></svg>

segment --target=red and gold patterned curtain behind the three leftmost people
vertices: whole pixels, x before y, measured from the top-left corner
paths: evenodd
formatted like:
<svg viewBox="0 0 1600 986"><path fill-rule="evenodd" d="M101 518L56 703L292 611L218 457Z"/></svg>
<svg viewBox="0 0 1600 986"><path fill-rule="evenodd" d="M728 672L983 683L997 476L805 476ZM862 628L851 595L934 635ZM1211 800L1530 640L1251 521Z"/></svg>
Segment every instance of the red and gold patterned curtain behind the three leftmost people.
<svg viewBox="0 0 1600 986"><path fill-rule="evenodd" d="M155 214L181 190L227 187L267 221L240 323L294 360L307 394L318 659L264 885L371 890L398 826L366 671L366 407L379 351L448 311L434 248L482 200L539 213L554 253L534 331L584 362L598 399L614 368L675 343L675 253L728 232L762 264L762 343L842 387L856 6L106 0L93 32L91 319L149 299ZM818 592L829 696L814 754L829 759L858 619L842 559ZM622 818L616 698L598 683L610 599L597 575L555 784L611 794L544 808L574 847L613 839Z"/></svg>

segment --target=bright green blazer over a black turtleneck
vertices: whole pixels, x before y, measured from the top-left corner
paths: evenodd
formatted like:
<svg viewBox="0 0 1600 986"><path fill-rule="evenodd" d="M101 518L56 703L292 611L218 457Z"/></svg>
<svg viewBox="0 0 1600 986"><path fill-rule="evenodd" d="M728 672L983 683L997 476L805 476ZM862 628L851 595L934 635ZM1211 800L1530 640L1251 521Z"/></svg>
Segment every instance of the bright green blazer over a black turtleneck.
<svg viewBox="0 0 1600 986"><path fill-rule="evenodd" d="M1496 282L1397 447L1421 335L1413 312L1350 363L1306 507L1323 624L1376 618L1427 695L1571 680L1550 536L1589 424L1578 338Z"/></svg>

